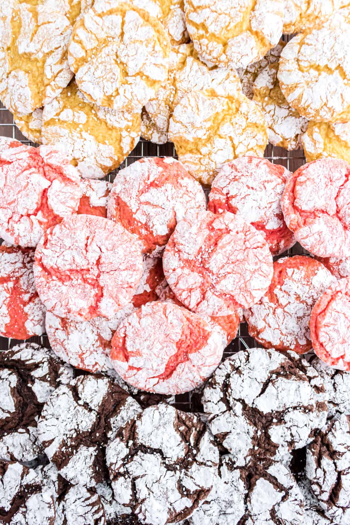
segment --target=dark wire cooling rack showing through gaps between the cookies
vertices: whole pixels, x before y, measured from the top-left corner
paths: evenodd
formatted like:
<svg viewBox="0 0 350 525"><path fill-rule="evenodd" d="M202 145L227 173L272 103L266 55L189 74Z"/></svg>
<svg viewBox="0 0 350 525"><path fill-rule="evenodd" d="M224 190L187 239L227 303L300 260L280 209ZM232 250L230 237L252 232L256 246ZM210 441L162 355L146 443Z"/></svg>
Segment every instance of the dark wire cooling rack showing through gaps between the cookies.
<svg viewBox="0 0 350 525"><path fill-rule="evenodd" d="M16 127L12 113L6 110L0 103L0 135L4 137L10 137L13 139L17 139L20 142L23 142L24 144L29 145L35 145L32 142L28 141L22 133L19 131L19 129ZM136 148L130 153L127 159L120 165L118 170L121 170L123 167L128 166L135 162L137 159L141 159L142 157L147 156L170 156L176 158L176 152L174 145L172 143L157 145L153 144L151 142L147 142L143 139L140 140L140 142L136 145ZM284 167L286 167L291 172L294 172L298 169L298 167L302 166L306 160L305 156L303 155L303 150L295 150L295 151L287 151L283 148L276 148L269 144L266 148L264 156L269 159L273 164L282 164ZM114 175L116 172L112 172L110 175L108 175L107 180L110 182L113 182ZM205 188L205 192L208 195L209 189ZM296 244L291 248L290 250L286 251L284 254L282 254L279 257L285 257L286 255L292 256L296 254L304 254L305 251L303 248ZM47 335L42 335L41 337L33 337L30 338L28 341L43 344L44 346L47 346L49 348L49 340ZM12 346L21 343L23 341L17 341L15 339L7 339L5 337L0 337L0 350L7 350L8 348L12 348ZM252 339L248 334L248 326L246 323L241 323L239 327L239 331L237 334L237 337L234 341L232 341L229 346L224 351L224 359L232 355L239 350L245 349L245 348L254 348L258 346L256 341ZM77 375L81 374L81 371L76 371ZM191 393L188 392L186 394L181 394L176 396L176 403L175 406L179 409L185 410L185 411L192 411L193 402L191 400Z"/></svg>

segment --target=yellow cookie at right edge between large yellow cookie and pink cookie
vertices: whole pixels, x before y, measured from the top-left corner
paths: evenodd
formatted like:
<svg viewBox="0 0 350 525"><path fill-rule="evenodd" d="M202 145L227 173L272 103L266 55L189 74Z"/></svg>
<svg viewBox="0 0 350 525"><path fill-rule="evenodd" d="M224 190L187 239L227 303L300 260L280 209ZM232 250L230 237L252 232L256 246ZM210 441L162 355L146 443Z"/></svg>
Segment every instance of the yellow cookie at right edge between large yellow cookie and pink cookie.
<svg viewBox="0 0 350 525"><path fill-rule="evenodd" d="M302 142L307 162L334 157L350 162L350 122L309 122Z"/></svg>

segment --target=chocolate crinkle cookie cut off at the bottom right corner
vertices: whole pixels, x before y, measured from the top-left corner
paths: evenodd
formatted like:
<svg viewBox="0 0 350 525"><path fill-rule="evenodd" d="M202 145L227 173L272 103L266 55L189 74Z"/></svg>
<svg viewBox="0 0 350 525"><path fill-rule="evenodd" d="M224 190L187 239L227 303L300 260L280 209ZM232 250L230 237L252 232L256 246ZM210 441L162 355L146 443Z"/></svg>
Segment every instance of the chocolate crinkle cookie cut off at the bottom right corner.
<svg viewBox="0 0 350 525"><path fill-rule="evenodd" d="M341 414L316 434L306 451L311 490L332 523L346 525L350 515L350 416Z"/></svg>

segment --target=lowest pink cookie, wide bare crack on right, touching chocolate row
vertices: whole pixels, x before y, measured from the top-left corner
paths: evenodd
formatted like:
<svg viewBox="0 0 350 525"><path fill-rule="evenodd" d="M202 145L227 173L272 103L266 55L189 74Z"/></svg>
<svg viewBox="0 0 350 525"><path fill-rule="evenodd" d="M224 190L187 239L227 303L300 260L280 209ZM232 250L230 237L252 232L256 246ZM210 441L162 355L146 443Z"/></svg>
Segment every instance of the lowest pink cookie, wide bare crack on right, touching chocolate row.
<svg viewBox="0 0 350 525"><path fill-rule="evenodd" d="M205 382L223 352L222 335L197 314L151 302L121 323L110 358L127 383L148 392L181 394Z"/></svg>

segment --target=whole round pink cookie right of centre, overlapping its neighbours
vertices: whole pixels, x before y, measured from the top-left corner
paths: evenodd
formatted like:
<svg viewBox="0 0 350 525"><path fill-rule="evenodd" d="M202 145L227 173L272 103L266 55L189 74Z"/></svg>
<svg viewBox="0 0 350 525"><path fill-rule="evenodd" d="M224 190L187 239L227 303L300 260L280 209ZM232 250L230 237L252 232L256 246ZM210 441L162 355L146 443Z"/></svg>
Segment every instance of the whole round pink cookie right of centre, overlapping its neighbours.
<svg viewBox="0 0 350 525"><path fill-rule="evenodd" d="M263 235L229 212L186 215L168 241L163 268L179 301L214 317L258 302L273 273Z"/></svg>

